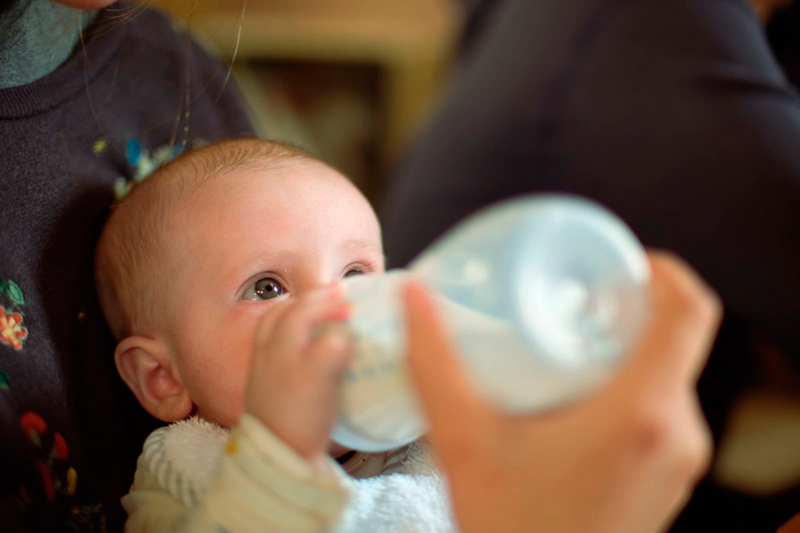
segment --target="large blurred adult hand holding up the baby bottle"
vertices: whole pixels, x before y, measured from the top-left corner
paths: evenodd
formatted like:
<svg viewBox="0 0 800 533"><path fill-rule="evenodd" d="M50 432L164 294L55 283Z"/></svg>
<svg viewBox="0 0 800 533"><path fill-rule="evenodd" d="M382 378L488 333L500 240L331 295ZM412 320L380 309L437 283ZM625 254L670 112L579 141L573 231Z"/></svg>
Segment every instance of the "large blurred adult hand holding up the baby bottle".
<svg viewBox="0 0 800 533"><path fill-rule="evenodd" d="M511 416L473 390L424 288L405 289L409 363L462 531L656 531L710 457L695 386L721 319L680 260L650 254L652 318L616 376L553 412Z"/></svg>

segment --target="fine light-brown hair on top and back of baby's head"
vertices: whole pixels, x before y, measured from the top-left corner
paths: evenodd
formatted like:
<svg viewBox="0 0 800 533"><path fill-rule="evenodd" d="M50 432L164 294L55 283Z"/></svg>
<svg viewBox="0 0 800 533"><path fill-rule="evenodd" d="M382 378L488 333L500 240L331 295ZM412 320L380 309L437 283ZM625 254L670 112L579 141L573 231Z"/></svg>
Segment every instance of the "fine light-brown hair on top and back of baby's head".
<svg viewBox="0 0 800 533"><path fill-rule="evenodd" d="M280 142L242 138L186 152L137 184L112 206L95 251L100 305L116 339L166 319L170 276L165 236L173 207L207 180L242 169L270 169L315 158Z"/></svg>

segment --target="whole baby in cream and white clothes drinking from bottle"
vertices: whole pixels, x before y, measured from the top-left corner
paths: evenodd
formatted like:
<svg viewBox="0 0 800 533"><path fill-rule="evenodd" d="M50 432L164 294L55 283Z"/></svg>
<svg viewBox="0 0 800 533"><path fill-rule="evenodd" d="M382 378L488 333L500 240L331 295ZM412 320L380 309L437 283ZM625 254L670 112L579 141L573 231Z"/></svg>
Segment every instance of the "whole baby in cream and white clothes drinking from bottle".
<svg viewBox="0 0 800 533"><path fill-rule="evenodd" d="M383 269L366 199L280 143L189 152L115 207L96 252L114 359L147 412L174 422L145 442L127 530L452 527L423 446L329 439L352 347L319 326L348 317L339 280Z"/></svg>

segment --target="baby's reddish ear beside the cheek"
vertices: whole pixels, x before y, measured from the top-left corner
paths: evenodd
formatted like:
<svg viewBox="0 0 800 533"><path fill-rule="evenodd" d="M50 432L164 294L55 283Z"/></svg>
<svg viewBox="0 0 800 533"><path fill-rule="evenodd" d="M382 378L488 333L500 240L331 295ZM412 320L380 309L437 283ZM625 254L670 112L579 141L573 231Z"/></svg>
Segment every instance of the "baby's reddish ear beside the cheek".
<svg viewBox="0 0 800 533"><path fill-rule="evenodd" d="M192 412L192 400L163 342L147 337L128 337L117 345L114 362L122 380L154 417L164 422L175 422Z"/></svg>

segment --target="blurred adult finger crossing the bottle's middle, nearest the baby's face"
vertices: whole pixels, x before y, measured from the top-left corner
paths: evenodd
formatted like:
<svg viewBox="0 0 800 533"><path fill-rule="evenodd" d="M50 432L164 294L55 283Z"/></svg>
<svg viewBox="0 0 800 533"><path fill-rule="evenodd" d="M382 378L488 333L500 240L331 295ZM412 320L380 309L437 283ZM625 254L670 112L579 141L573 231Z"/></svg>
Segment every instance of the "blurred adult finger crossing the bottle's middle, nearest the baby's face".
<svg viewBox="0 0 800 533"><path fill-rule="evenodd" d="M488 413L472 389L428 292L410 282L403 290L409 370L430 424L430 440L442 455L447 448L471 442L485 429Z"/></svg>

